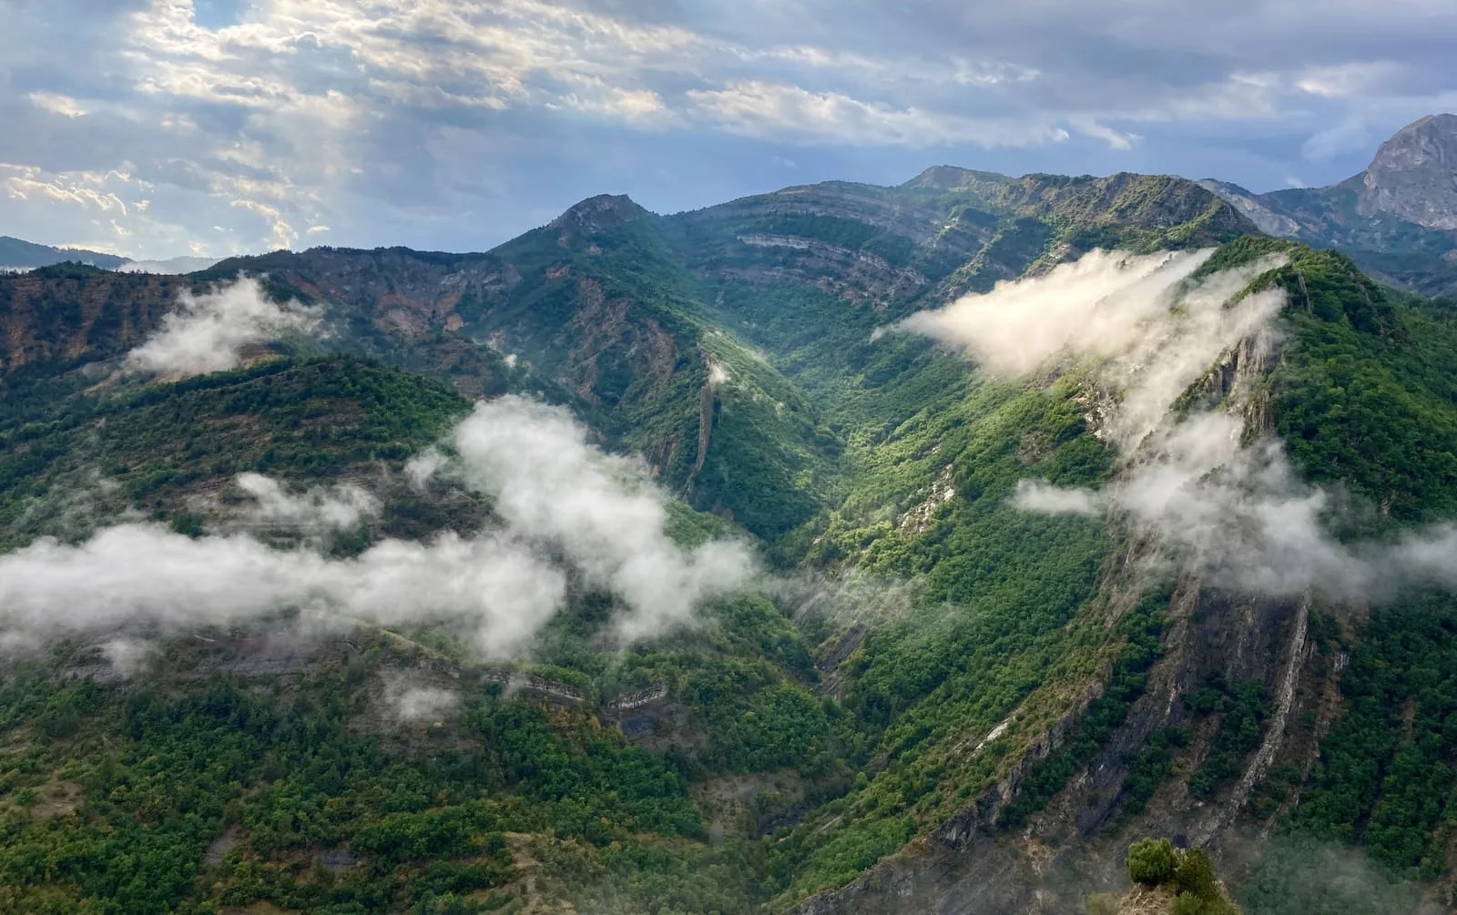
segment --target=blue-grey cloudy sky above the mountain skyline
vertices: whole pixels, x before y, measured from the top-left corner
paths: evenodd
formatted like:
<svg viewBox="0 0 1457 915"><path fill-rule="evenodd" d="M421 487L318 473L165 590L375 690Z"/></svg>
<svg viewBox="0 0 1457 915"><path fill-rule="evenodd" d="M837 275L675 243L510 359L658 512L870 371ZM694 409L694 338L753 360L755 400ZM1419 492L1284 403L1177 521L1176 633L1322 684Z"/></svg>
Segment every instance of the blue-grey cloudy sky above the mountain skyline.
<svg viewBox="0 0 1457 915"><path fill-rule="evenodd" d="M931 165L1254 191L1457 111L1453 0L0 0L0 235L481 251Z"/></svg>

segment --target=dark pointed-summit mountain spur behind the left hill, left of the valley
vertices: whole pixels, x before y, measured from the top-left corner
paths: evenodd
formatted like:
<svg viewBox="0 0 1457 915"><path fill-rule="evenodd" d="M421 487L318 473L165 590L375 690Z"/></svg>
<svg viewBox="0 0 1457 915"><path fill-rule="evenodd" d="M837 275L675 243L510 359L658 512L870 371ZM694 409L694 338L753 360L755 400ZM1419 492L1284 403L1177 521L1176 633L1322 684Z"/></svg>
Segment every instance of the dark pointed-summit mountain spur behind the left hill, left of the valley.
<svg viewBox="0 0 1457 915"><path fill-rule="evenodd" d="M329 345L466 395L498 393L492 377L520 360L691 504L778 536L832 485L839 444L793 385L710 321L657 221L627 198L594 198L487 255L315 249L205 275L267 271L278 293L329 309Z"/></svg>

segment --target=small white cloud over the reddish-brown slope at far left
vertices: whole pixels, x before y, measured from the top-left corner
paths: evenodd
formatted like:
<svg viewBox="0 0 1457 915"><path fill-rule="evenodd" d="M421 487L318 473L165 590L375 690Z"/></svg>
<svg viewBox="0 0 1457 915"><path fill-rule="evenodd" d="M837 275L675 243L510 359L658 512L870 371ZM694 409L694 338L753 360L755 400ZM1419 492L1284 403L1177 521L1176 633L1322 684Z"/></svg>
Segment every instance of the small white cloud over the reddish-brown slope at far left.
<svg viewBox="0 0 1457 915"><path fill-rule="evenodd" d="M318 322L318 312L297 302L277 305L256 278L239 277L200 296L184 290L160 329L127 354L127 367L178 374L236 369L248 347L310 331Z"/></svg>

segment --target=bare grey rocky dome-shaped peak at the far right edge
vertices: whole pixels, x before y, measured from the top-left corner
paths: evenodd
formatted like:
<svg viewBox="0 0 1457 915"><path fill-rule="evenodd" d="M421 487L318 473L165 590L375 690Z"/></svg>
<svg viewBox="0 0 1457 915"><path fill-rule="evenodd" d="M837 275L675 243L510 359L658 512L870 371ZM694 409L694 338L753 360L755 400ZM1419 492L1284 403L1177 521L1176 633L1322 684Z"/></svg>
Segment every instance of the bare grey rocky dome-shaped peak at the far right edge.
<svg viewBox="0 0 1457 915"><path fill-rule="evenodd" d="M1359 176L1362 216L1457 229L1457 115L1428 115L1381 144Z"/></svg>

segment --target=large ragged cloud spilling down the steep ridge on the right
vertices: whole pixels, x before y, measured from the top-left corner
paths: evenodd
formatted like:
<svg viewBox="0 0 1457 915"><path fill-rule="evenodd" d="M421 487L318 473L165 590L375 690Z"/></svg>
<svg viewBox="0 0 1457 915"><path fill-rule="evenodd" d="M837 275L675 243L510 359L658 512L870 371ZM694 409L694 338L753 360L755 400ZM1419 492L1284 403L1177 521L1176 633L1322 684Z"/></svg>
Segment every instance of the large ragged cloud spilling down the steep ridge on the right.
<svg viewBox="0 0 1457 915"><path fill-rule="evenodd" d="M1457 527L1354 545L1327 533L1338 500L1304 484L1281 443L1247 420L1285 305L1279 288L1250 286L1281 261L1195 280L1206 259L1093 252L898 326L963 345L998 374L1026 376L1058 358L1094 366L1090 420L1123 468L1097 491L1023 481L1014 495L1023 510L1107 514L1243 593L1386 600L1410 584L1457 586ZM1214 369L1233 376L1221 404L1180 415L1176 404Z"/></svg>

